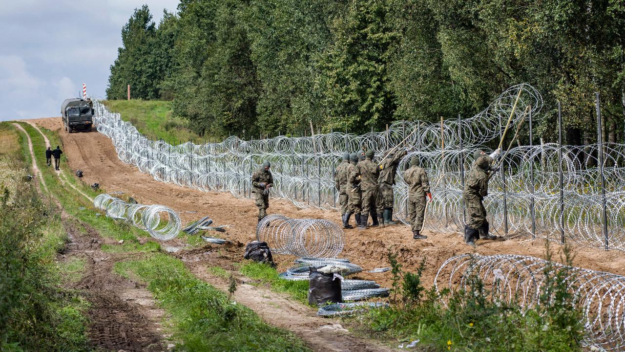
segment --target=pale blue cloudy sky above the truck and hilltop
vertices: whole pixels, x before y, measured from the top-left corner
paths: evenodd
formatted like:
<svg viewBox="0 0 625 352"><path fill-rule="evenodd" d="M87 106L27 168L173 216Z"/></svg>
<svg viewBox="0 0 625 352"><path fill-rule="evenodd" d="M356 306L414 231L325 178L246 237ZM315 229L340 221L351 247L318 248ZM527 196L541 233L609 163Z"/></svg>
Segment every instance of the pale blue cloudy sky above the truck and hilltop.
<svg viewBox="0 0 625 352"><path fill-rule="evenodd" d="M0 0L0 121L60 116L83 83L104 98L121 28L143 4L158 24L178 0Z"/></svg>

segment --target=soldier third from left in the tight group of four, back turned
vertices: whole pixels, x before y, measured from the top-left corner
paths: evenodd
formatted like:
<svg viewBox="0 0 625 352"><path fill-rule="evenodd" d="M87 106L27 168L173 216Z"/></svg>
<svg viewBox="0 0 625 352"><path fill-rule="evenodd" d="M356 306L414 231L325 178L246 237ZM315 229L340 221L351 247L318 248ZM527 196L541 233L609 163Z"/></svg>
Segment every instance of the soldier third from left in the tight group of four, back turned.
<svg viewBox="0 0 625 352"><path fill-rule="evenodd" d="M360 189L362 194L362 210L360 213L360 230L367 229L367 218L369 217L369 210L376 207L377 192L379 187L377 185L377 178L380 175L380 168L373 162L374 157L373 150L369 149L366 152L366 159L362 160L356 165L356 170L349 176L349 182L352 184L357 183L360 180ZM378 219L380 227L384 227L384 221L381 217Z"/></svg>

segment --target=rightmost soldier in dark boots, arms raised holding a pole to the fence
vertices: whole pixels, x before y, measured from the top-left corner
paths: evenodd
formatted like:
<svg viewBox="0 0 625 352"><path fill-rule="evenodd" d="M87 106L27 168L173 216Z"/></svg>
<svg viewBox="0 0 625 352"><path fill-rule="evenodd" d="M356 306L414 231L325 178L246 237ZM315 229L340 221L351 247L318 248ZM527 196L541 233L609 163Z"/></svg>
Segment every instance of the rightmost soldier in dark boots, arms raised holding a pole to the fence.
<svg viewBox="0 0 625 352"><path fill-rule="evenodd" d="M473 154L475 162L462 191L462 199L469 213L469 222L464 225L464 240L469 246L475 246L476 239L497 238L488 234L489 224L486 220L483 200L488 195L488 179L491 171L498 170L492 164L493 158L496 158L499 152L500 150L497 149L491 155L486 155L481 150L476 150Z"/></svg>

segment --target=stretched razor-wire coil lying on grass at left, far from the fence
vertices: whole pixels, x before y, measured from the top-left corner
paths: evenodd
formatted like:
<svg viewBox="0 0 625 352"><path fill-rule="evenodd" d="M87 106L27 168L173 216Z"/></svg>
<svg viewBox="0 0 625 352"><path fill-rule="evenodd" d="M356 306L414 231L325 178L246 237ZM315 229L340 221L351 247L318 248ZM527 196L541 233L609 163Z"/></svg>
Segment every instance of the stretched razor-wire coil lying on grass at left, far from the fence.
<svg viewBox="0 0 625 352"><path fill-rule="evenodd" d="M108 194L96 196L93 205L106 210L106 216L127 220L161 241L174 239L181 229L182 223L178 213L164 205L129 204Z"/></svg>

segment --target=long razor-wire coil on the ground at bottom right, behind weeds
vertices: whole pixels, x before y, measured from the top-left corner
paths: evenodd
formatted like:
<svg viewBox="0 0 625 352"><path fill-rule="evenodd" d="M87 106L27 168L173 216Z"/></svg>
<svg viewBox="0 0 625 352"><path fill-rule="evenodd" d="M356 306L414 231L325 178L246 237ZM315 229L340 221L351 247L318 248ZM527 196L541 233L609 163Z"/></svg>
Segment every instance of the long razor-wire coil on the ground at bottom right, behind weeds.
<svg viewBox="0 0 625 352"><path fill-rule="evenodd" d="M501 254L464 254L447 259L439 268L434 286L470 289L469 279L481 279L493 297L516 303L522 309L540 304L547 274L562 274L584 313L584 343L604 351L622 351L625 346L625 276L564 266L544 259ZM552 297L551 299L555 299Z"/></svg>

